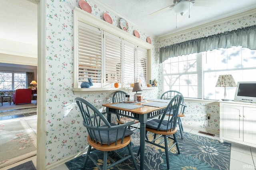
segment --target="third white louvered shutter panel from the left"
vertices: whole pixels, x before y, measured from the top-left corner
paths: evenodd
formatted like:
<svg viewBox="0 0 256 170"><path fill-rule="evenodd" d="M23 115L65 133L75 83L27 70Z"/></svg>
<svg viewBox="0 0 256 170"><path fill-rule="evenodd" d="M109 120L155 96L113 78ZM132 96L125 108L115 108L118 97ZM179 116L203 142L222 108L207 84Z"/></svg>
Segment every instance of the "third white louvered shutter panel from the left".
<svg viewBox="0 0 256 170"><path fill-rule="evenodd" d="M124 82L132 84L135 80L135 45L124 41Z"/></svg>

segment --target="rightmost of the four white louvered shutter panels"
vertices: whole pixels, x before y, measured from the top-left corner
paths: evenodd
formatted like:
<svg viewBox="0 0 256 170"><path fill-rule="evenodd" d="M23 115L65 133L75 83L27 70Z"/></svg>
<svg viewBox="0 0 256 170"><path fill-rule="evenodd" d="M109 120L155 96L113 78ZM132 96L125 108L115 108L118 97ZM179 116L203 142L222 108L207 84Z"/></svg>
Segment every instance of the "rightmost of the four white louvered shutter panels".
<svg viewBox="0 0 256 170"><path fill-rule="evenodd" d="M146 82L147 79L147 59L148 59L148 50L138 47L137 48L137 78L145 78Z"/></svg>

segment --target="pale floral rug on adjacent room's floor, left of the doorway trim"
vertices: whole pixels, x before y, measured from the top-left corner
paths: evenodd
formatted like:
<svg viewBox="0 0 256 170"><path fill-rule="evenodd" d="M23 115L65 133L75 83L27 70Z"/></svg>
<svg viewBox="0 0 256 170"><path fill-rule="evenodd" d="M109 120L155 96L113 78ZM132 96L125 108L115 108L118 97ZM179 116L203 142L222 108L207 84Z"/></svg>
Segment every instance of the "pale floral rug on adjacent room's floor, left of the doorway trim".
<svg viewBox="0 0 256 170"><path fill-rule="evenodd" d="M36 155L37 116L0 121L0 168Z"/></svg>

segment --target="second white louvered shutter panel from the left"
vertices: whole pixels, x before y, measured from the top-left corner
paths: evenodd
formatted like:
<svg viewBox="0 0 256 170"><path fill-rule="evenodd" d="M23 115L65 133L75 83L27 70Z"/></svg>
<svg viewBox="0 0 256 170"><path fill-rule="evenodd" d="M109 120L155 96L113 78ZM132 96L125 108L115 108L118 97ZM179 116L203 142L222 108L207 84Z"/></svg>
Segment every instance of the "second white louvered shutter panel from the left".
<svg viewBox="0 0 256 170"><path fill-rule="evenodd" d="M119 37L106 33L106 83L122 82L122 42Z"/></svg>

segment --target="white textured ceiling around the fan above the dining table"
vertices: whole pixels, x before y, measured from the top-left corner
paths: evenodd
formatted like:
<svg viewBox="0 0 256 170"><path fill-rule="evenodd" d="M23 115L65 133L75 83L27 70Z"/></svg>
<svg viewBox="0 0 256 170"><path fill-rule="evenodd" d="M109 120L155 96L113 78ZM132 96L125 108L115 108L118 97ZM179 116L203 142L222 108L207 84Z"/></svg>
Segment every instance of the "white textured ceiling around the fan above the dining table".
<svg viewBox="0 0 256 170"><path fill-rule="evenodd" d="M95 1L95 0L94 0ZM209 2L219 0L195 0L198 2ZM173 0L97 0L122 14L136 25L144 28L148 33L163 37L192 27L197 27L223 18L234 16L242 12L256 9L256 0L220 0L214 6L196 6L190 9L188 15L178 17L176 28L176 14L173 10L166 10L160 14L149 16L162 8L173 4Z"/></svg>

